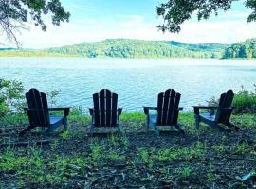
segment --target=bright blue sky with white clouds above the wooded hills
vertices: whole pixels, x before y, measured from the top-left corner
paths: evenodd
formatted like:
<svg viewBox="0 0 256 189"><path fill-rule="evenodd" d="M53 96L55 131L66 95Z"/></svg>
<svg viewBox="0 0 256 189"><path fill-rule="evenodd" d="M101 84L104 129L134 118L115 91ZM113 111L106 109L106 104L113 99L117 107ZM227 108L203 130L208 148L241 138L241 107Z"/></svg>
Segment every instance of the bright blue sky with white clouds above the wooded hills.
<svg viewBox="0 0 256 189"><path fill-rule="evenodd" d="M181 32L162 33L156 6L168 0L61 0L71 13L69 23L52 26L46 16L46 32L28 24L29 30L17 33L24 48L46 48L69 44L98 42L105 39L166 40L182 43L237 43L256 37L256 22L247 23L251 9L243 1L235 2L227 12L220 11L209 20L198 22L196 16L181 26ZM9 46L13 44L3 40Z"/></svg>

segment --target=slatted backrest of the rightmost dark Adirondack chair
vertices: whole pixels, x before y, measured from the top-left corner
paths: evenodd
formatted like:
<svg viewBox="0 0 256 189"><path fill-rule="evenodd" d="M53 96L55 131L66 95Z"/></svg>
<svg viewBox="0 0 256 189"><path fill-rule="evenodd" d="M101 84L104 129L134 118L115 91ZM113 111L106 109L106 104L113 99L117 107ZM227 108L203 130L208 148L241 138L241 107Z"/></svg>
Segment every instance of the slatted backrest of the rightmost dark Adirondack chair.
<svg viewBox="0 0 256 189"><path fill-rule="evenodd" d="M221 94L219 107L217 110L215 121L217 123L227 123L232 113L232 109L221 109L221 108L231 108L232 101L234 98L234 93L232 90L227 91L226 93Z"/></svg>

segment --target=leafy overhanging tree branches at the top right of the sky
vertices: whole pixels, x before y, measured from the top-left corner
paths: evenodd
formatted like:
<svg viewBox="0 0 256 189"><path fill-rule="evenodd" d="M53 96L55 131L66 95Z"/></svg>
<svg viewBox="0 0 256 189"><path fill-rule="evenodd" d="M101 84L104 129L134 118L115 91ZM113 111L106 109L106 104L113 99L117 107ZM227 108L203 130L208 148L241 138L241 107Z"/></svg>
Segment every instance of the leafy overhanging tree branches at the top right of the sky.
<svg viewBox="0 0 256 189"><path fill-rule="evenodd" d="M158 26L160 30L178 33L180 26L191 19L196 13L198 20L208 19L211 13L218 14L219 9L228 10L231 4L237 0L169 0L157 6L157 14L164 20L164 24ZM256 21L256 0L246 0L245 6L252 9L247 17L247 22Z"/></svg>

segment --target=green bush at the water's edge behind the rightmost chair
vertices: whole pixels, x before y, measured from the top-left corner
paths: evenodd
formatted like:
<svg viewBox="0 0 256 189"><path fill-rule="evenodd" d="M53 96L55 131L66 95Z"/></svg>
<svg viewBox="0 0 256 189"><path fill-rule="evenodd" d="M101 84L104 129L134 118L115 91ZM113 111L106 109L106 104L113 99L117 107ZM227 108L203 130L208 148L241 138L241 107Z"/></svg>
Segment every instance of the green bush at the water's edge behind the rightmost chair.
<svg viewBox="0 0 256 189"><path fill-rule="evenodd" d="M242 86L242 89L234 96L232 106L235 107L235 113L250 113L256 110L256 85L253 85L255 90L249 91ZM217 106L219 98L212 97L208 101L209 106Z"/></svg>

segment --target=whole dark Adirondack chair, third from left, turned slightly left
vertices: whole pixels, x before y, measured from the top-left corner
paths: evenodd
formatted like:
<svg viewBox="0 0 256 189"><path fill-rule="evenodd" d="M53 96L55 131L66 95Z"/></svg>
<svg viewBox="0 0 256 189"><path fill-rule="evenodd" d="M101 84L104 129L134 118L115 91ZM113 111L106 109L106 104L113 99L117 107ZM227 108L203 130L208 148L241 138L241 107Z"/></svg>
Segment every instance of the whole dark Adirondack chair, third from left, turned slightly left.
<svg viewBox="0 0 256 189"><path fill-rule="evenodd" d="M184 134L183 129L177 123L178 112L183 108L178 107L181 94L174 89L168 89L158 94L157 107L143 107L147 115L147 131L152 126L155 133L159 135L159 126L170 126ZM155 111L156 114L151 113Z"/></svg>

